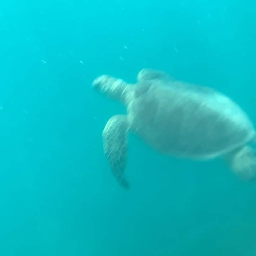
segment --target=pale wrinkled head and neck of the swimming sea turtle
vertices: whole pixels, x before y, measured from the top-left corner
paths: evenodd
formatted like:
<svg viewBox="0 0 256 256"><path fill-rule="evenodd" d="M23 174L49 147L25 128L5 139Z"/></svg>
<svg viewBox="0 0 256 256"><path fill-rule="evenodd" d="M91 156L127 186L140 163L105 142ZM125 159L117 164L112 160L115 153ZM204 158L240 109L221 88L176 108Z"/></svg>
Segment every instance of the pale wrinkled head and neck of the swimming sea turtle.
<svg viewBox="0 0 256 256"><path fill-rule="evenodd" d="M114 78L110 75L101 75L94 79L92 82L92 87L111 98L125 104L128 103L128 95L131 91L130 85L122 79Z"/></svg>

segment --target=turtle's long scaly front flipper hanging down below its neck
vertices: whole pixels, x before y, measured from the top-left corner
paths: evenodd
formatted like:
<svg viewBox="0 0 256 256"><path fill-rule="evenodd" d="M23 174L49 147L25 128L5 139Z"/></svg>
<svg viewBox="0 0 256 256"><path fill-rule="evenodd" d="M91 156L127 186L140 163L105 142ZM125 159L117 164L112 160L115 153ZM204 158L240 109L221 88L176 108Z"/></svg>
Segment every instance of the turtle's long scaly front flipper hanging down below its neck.
<svg viewBox="0 0 256 256"><path fill-rule="evenodd" d="M125 115L111 117L102 133L103 148L111 171L118 183L129 189L129 183L124 177L127 156L127 132L129 126Z"/></svg>

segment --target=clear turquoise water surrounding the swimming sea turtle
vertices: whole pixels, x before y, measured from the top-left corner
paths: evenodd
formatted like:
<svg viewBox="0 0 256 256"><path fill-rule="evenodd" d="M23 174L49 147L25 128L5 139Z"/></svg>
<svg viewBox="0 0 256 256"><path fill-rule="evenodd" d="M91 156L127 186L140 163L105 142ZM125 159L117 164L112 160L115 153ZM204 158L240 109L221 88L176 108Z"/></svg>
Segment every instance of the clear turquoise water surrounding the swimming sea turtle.
<svg viewBox="0 0 256 256"><path fill-rule="evenodd" d="M256 123L255 1L0 4L0 255L256 253L256 184L129 138L124 191L102 151L123 106L91 89L140 69L218 89Z"/></svg>

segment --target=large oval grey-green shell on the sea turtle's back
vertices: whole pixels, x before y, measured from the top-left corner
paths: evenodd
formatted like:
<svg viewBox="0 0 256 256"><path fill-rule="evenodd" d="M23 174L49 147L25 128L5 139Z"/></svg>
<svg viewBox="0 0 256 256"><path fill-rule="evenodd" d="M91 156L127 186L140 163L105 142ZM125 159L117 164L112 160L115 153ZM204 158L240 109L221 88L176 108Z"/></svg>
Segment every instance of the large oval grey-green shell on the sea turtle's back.
<svg viewBox="0 0 256 256"><path fill-rule="evenodd" d="M161 74L144 72L138 78L128 119L134 133L154 148L179 157L209 159L255 138L246 113L220 92L162 79Z"/></svg>

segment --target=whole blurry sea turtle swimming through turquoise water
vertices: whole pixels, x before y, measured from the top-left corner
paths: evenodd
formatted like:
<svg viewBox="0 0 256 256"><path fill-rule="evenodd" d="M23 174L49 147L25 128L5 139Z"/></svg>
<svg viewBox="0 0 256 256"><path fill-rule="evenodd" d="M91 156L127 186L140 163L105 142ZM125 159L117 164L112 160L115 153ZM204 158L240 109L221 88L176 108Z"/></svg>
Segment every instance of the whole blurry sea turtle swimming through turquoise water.
<svg viewBox="0 0 256 256"><path fill-rule="evenodd" d="M256 138L254 126L220 92L146 68L135 84L101 75L92 87L127 108L127 115L111 117L102 133L105 155L122 187L130 187L124 176L128 131L161 153L194 160L222 157L240 177L255 176L256 156L248 145Z"/></svg>

